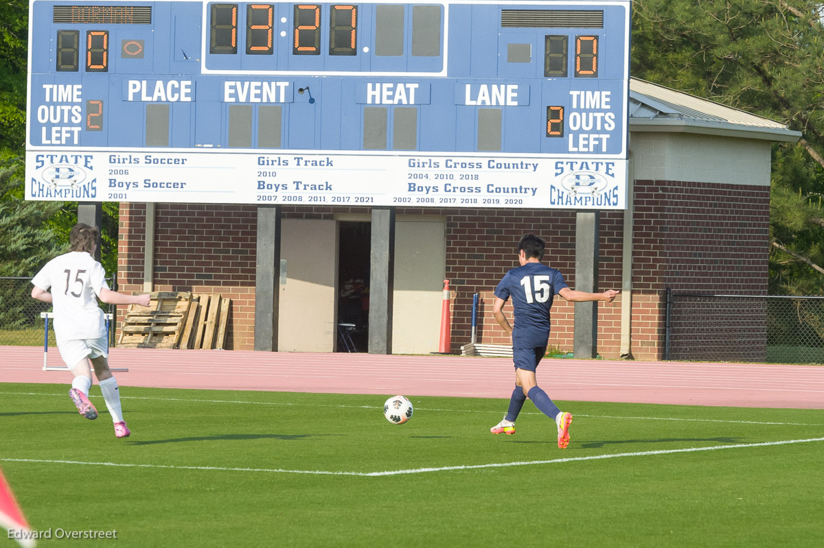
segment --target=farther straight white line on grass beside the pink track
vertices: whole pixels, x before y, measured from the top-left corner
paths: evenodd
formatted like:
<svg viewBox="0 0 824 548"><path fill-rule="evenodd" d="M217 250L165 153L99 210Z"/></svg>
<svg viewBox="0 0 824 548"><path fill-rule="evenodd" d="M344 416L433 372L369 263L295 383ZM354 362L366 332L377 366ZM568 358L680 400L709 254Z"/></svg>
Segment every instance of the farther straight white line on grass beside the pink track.
<svg viewBox="0 0 824 548"><path fill-rule="evenodd" d="M53 396L66 397L66 394L45 394L42 392L0 392L3 396ZM91 398L101 398L101 396L90 396ZM341 406L334 404L315 404L315 403L290 403L290 402L247 402L244 400L201 400L191 399L188 397L143 397L143 396L120 396L121 400L147 400L151 402L194 402L194 403L229 403L229 404L246 404L253 406L307 406L307 407L335 407L337 409L381 409L381 406ZM414 399L414 396L412 397ZM640 404L644 405L644 404ZM447 413L485 413L500 415L500 411L478 411L475 409L439 409L437 407L419 407L415 406L416 411L435 411ZM521 411L521 415L543 415L543 413L536 411ZM760 420L720 420L720 419L686 419L682 417L664 417L664 416L611 416L611 415L584 415L583 413L575 413L574 416L585 416L592 419L616 419L616 420L675 420L675 421L690 421L690 422L719 422L733 425L777 425L777 426L824 426L822 424L809 422L766 422Z"/></svg>

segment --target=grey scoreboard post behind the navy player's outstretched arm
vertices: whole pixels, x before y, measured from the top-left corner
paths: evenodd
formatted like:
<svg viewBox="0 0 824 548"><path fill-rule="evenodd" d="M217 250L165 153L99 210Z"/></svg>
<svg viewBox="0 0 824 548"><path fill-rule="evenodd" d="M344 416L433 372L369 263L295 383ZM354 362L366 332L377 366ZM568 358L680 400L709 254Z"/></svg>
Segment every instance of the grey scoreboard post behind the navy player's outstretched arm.
<svg viewBox="0 0 824 548"><path fill-rule="evenodd" d="M598 283L598 233L600 211L575 213L575 289L592 293ZM574 348L576 358L597 356L598 303L575 303Z"/></svg>

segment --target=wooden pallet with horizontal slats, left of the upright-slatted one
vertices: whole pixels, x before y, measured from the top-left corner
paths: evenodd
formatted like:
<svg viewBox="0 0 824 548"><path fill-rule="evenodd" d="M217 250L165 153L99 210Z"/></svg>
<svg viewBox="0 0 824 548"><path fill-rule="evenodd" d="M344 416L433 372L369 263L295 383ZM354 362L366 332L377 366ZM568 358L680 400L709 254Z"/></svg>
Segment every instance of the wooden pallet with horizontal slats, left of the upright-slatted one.
<svg viewBox="0 0 824 548"><path fill-rule="evenodd" d="M149 306L129 304L117 346L176 348L189 315L190 291L156 291Z"/></svg>

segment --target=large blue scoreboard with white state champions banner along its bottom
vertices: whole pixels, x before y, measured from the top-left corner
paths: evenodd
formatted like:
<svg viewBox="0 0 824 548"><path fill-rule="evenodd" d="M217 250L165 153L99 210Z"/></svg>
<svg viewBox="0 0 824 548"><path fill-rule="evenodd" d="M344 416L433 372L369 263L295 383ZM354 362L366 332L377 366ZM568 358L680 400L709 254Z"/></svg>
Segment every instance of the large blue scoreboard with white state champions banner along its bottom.
<svg viewBox="0 0 824 548"><path fill-rule="evenodd" d="M623 209L629 42L629 0L31 0L26 197Z"/></svg>

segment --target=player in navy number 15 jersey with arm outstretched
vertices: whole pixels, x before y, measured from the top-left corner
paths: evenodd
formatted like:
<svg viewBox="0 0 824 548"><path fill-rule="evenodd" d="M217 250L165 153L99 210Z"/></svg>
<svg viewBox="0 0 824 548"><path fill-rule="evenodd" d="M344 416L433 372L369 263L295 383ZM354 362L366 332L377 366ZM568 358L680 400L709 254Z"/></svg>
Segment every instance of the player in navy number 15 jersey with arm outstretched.
<svg viewBox="0 0 824 548"><path fill-rule="evenodd" d="M501 327L513 337L513 362L515 364L515 389L509 400L507 415L490 431L493 434L515 434L515 420L527 397L558 426L558 447L569 445L569 425L572 415L555 406L546 392L538 387L535 371L546 352L550 337L550 309L555 295L569 301L603 300L612 302L618 291L588 293L570 289L564 276L555 268L541 263L544 257L544 239L527 234L517 244L520 267L503 276L495 288L492 313ZM513 300L514 326L503 315L503 305Z"/></svg>

